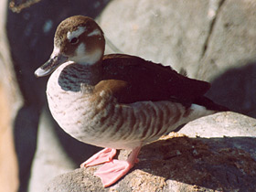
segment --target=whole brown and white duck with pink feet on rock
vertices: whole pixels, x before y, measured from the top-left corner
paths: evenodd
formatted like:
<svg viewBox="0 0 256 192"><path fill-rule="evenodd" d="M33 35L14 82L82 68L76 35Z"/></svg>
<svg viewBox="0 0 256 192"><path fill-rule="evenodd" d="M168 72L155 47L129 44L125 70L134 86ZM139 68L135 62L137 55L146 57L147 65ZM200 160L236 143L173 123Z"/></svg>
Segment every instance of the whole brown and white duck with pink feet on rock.
<svg viewBox="0 0 256 192"><path fill-rule="evenodd" d="M178 126L227 111L209 100L210 83L170 66L126 54L104 55L101 27L88 16L70 16L57 27L48 61L35 71L50 77L49 110L59 126L86 144L103 147L81 167L110 187L139 161L139 152ZM131 150L127 160L117 150Z"/></svg>

